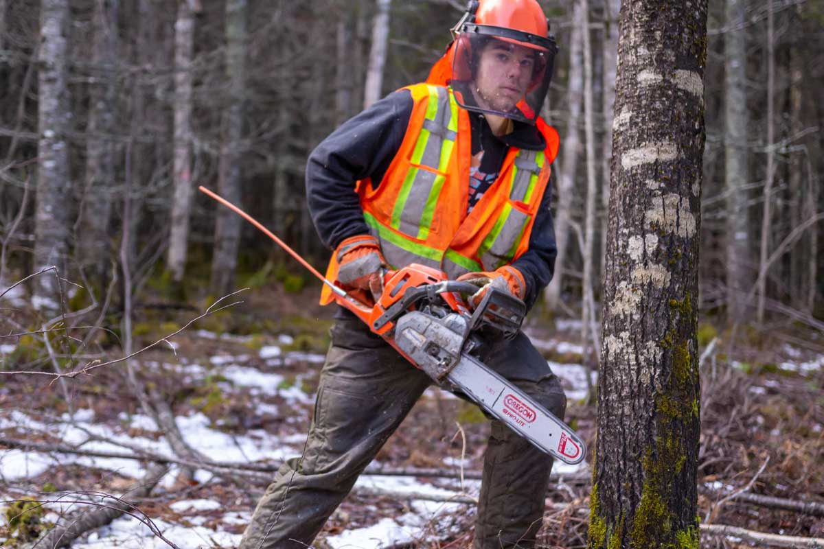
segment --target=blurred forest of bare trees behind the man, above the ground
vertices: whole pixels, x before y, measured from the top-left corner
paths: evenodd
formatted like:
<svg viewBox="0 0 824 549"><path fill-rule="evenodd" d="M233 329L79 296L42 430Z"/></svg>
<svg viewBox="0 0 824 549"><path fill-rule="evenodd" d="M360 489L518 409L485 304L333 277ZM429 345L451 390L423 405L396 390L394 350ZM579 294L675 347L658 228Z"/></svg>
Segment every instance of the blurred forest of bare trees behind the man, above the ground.
<svg viewBox="0 0 824 549"><path fill-rule="evenodd" d="M547 300L570 312L584 285L599 295L620 2L589 2L588 13L541 3L560 46L544 115L562 137ZM103 303L119 277L115 308L124 271L134 295L153 280L179 301L250 277L299 289L296 263L193 188L219 189L323 266L303 193L308 152L365 104L424 79L462 8L0 0L0 279L54 265ZM708 49L701 309L821 327L824 3L712 2ZM45 299L35 305L54 305L53 281L31 286Z"/></svg>

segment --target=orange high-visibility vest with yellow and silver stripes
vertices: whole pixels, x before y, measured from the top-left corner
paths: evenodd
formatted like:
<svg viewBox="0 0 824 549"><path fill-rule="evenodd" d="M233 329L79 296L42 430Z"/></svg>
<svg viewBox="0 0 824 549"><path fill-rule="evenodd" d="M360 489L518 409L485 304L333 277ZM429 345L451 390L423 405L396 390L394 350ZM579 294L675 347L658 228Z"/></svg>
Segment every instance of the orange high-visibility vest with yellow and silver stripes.
<svg viewBox="0 0 824 549"><path fill-rule="evenodd" d="M509 147L498 179L466 214L471 129L447 87L415 84L404 141L381 184L358 181L363 217L390 268L422 263L454 279L494 271L527 251L532 225L558 153L554 128L538 119L544 151ZM335 279L333 256L327 277ZM329 303L324 287L321 303Z"/></svg>

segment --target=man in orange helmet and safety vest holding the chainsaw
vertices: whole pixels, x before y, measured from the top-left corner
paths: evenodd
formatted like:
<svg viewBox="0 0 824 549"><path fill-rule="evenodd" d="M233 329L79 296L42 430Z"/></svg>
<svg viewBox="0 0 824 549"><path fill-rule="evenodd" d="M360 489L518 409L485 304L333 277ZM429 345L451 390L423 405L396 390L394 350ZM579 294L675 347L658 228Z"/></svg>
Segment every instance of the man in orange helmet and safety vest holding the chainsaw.
<svg viewBox="0 0 824 549"><path fill-rule="evenodd" d="M537 117L555 42L536 0L475 2L453 30L426 83L378 101L312 152L308 205L335 250L327 277L369 300L382 267L424 263L478 284L474 305L494 285L531 306L555 262L547 185L558 136ZM349 311L335 320L302 456L266 490L243 549L310 546L431 383ZM563 419L558 379L523 333L485 334L479 358ZM551 467L492 421L474 547L534 546Z"/></svg>

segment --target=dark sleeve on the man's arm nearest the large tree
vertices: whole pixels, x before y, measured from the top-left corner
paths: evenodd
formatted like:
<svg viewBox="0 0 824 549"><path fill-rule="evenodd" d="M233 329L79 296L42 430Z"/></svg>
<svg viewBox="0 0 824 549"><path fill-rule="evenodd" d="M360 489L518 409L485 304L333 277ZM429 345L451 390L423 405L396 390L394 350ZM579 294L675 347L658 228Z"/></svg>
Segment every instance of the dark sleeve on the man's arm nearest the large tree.
<svg viewBox="0 0 824 549"><path fill-rule="evenodd" d="M529 249L521 257L513 261L512 265L522 272L527 283L527 292L524 303L527 309L535 305L541 291L552 280L555 272L555 256L558 249L555 245L555 227L553 226L550 203L552 202L552 179L546 185L541 207L535 216L535 223L529 237Z"/></svg>

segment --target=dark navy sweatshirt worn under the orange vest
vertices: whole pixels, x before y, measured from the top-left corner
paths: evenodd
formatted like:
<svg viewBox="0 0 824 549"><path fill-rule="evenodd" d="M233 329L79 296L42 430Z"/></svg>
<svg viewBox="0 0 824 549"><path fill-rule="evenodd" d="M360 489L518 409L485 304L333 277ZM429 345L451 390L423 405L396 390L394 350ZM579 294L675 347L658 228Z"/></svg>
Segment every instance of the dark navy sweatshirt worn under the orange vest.
<svg viewBox="0 0 824 549"><path fill-rule="evenodd" d="M400 90L340 125L309 156L306 170L307 204L321 241L330 249L349 236L369 232L363 221L354 182L380 184L400 149L412 114L410 91ZM500 170L509 146L542 150L545 140L534 126L515 123L515 130L494 137L482 114L470 113L472 152L483 148ZM469 182L466 182L469 184ZM546 187L529 240L529 249L513 263L527 282L524 301L531 307L550 282L555 267L555 230L550 212L551 188Z"/></svg>

